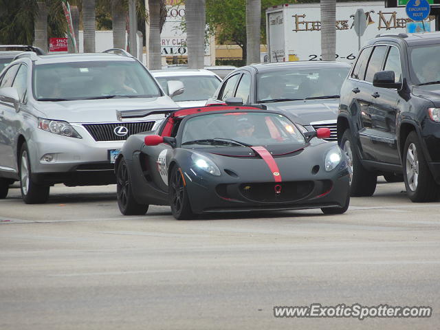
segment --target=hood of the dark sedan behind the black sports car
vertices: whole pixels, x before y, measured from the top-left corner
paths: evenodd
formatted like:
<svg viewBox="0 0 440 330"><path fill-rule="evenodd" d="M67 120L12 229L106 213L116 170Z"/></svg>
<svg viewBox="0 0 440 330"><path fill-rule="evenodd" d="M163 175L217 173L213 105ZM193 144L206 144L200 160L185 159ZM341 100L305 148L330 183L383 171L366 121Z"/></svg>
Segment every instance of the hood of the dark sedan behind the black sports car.
<svg viewBox="0 0 440 330"><path fill-rule="evenodd" d="M338 118L339 99L298 100L288 102L263 103L270 110L286 111L289 117L298 124L308 125L311 122L334 120Z"/></svg>

